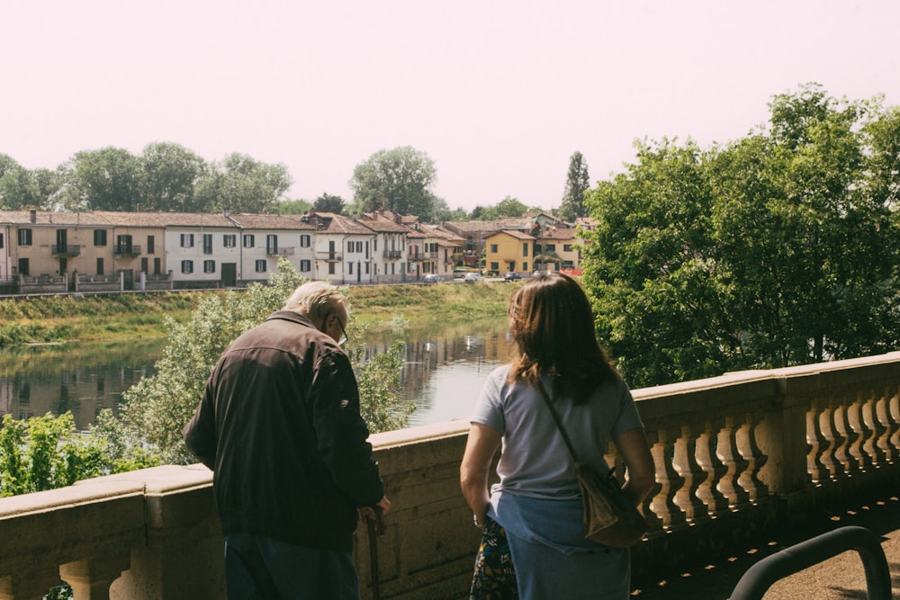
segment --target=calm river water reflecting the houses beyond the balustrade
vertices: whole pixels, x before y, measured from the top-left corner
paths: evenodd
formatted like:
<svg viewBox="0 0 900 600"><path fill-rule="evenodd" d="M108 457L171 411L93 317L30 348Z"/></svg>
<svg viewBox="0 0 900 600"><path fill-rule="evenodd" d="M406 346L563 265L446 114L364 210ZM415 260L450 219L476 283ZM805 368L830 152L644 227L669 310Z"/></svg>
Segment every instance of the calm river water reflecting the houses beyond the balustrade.
<svg viewBox="0 0 900 600"><path fill-rule="evenodd" d="M404 398L416 404L410 426L465 418L484 379L509 360L507 319L491 318L365 336L366 353L406 342ZM114 344L17 346L0 351L0 415L71 411L85 429L103 408L155 372L165 339ZM365 402L365 399L363 399Z"/></svg>

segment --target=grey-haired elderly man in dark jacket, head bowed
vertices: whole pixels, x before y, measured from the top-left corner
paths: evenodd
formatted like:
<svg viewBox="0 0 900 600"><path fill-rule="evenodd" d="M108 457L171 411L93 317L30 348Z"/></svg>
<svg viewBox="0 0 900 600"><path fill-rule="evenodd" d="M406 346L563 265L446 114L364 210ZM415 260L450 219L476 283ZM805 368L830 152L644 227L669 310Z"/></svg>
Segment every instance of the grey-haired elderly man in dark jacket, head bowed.
<svg viewBox="0 0 900 600"><path fill-rule="evenodd" d="M239 336L184 442L213 471L233 598L358 598L357 510L386 513L345 339L347 299L305 283Z"/></svg>

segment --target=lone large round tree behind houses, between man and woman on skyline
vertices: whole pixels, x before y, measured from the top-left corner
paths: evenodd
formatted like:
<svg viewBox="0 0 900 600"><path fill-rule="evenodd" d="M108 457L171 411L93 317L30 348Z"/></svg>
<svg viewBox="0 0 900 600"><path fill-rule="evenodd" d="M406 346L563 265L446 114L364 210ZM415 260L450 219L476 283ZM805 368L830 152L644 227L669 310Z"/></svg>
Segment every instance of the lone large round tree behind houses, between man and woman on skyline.
<svg viewBox="0 0 900 600"><path fill-rule="evenodd" d="M434 161L424 152L405 146L379 150L353 170L354 212L381 208L431 219L437 181Z"/></svg>

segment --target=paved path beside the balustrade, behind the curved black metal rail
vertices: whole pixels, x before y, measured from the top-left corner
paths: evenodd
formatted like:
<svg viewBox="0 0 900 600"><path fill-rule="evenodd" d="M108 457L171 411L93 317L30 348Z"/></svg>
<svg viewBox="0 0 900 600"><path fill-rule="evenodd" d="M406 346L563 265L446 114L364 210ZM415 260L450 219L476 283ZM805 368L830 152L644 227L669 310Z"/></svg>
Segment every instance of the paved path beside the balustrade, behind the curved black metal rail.
<svg viewBox="0 0 900 600"><path fill-rule="evenodd" d="M762 558L845 525L859 525L875 533L887 556L894 597L900 600L900 490L867 506L842 514L806 515L803 524L785 528L755 545L733 548L728 556L706 565L679 570L661 566L653 580L633 581L637 600L725 600L747 569ZM826 560L776 582L764 600L862 600L867 598L865 571L855 551Z"/></svg>

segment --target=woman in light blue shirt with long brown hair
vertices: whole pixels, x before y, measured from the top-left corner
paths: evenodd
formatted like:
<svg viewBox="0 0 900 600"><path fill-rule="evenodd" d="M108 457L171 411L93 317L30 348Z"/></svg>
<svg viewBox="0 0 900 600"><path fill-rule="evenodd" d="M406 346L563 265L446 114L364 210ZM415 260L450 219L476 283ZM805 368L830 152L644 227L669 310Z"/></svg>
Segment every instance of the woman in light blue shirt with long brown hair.
<svg viewBox="0 0 900 600"><path fill-rule="evenodd" d="M554 402L580 461L607 472L608 439L628 468L635 506L653 489L644 425L594 335L590 303L562 273L533 277L509 301L518 357L491 373L472 417L460 481L482 545L473 598L627 598L627 549L584 539L572 457L538 384ZM500 483L488 490L494 454Z"/></svg>

